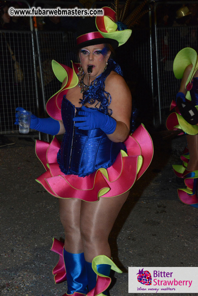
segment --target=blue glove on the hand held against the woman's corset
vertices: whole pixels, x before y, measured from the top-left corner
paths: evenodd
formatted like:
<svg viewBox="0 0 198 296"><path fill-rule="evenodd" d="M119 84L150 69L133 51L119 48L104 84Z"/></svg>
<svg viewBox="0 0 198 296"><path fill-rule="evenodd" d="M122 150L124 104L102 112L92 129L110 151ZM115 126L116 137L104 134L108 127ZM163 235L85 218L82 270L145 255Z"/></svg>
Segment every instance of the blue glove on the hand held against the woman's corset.
<svg viewBox="0 0 198 296"><path fill-rule="evenodd" d="M74 117L75 126L82 130L91 130L94 128L100 128L107 135L113 133L116 128L116 120L106 115L96 109L86 108L83 106L81 108L83 111L79 111L81 117ZM79 122L81 121L81 122Z"/></svg>

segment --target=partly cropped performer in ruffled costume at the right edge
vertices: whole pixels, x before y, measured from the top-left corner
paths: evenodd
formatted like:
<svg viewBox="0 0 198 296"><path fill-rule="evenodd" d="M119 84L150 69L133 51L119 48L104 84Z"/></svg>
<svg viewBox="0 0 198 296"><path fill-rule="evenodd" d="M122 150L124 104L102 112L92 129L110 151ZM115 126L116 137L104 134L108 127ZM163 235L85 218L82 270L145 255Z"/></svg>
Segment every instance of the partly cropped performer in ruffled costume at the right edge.
<svg viewBox="0 0 198 296"><path fill-rule="evenodd" d="M176 176L183 178L186 188L178 189L180 200L198 207L198 61L197 52L186 47L175 57L173 71L181 79L176 101L172 101L172 112L167 118L169 130L181 129L186 134L187 145L181 155L182 165L173 165ZM175 108L175 109L173 109Z"/></svg>

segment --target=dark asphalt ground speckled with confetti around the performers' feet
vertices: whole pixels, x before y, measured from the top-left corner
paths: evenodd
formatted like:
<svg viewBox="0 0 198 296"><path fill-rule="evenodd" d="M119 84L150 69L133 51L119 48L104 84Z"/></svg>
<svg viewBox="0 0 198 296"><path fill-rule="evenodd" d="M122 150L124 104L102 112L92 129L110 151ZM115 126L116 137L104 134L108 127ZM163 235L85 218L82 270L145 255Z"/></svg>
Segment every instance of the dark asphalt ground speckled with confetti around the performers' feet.
<svg viewBox="0 0 198 296"><path fill-rule="evenodd" d="M172 171L172 164L180 163L185 136L162 136L163 132L152 134L153 161L131 189L110 234L113 260L123 270L115 275L112 296L130 295L129 266L198 266L198 209L180 202L177 188L183 185L177 184ZM34 142L11 139L15 145L0 148L0 292L62 296L66 283L54 284L52 269L58 255L50 251L53 237L64 238L58 201L34 181L45 170L34 153Z"/></svg>

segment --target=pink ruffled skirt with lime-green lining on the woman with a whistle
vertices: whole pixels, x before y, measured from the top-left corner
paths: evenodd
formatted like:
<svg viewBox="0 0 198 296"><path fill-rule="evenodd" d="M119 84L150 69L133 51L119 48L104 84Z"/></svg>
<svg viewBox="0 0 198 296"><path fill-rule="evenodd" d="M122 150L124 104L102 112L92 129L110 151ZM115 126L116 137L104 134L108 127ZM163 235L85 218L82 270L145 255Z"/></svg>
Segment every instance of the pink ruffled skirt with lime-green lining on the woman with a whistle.
<svg viewBox="0 0 198 296"><path fill-rule="evenodd" d="M88 176L79 177L61 172L56 161L61 144L56 137L51 143L37 140L36 155L46 172L36 181L50 194L59 198L78 198L95 202L99 197L123 194L145 172L153 157L153 142L143 125L140 125L132 136L128 136L124 144L127 154L121 150L111 167L99 168Z"/></svg>

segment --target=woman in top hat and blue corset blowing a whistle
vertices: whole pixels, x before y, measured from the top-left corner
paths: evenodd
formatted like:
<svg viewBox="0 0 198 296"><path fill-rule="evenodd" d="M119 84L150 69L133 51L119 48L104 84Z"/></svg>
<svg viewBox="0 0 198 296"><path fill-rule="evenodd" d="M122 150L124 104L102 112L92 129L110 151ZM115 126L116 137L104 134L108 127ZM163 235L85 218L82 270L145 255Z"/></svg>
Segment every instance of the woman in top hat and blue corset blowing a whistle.
<svg viewBox="0 0 198 296"><path fill-rule="evenodd" d="M128 135L131 93L110 57L132 31L117 30L115 11L105 7L104 12L79 24L79 64L69 68L52 61L62 87L46 104L50 118L31 116L31 128L64 134L61 144L56 137L36 142L46 169L37 181L58 197L65 231L64 243L53 239L51 248L59 254L55 282L67 280L64 296L108 295L110 269L122 272L110 259L108 237L130 188L153 157L143 125Z"/></svg>

